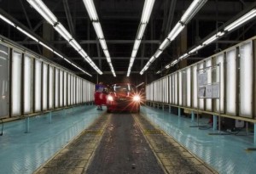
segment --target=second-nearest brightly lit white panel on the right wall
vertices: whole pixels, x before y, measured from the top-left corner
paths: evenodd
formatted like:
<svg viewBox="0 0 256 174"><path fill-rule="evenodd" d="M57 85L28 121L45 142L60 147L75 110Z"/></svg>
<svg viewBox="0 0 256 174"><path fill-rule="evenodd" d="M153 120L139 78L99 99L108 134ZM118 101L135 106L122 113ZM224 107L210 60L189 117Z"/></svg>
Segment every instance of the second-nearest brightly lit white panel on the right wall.
<svg viewBox="0 0 256 174"><path fill-rule="evenodd" d="M236 115L236 48L226 53L226 113Z"/></svg>

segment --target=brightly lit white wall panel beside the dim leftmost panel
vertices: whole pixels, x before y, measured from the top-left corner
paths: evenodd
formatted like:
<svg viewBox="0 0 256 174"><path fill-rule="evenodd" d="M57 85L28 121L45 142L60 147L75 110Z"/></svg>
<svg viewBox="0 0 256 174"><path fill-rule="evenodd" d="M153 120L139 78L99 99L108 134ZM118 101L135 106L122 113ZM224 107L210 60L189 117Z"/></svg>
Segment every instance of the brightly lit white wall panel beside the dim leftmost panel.
<svg viewBox="0 0 256 174"><path fill-rule="evenodd" d="M13 52L12 60L12 115L21 114L21 53Z"/></svg>

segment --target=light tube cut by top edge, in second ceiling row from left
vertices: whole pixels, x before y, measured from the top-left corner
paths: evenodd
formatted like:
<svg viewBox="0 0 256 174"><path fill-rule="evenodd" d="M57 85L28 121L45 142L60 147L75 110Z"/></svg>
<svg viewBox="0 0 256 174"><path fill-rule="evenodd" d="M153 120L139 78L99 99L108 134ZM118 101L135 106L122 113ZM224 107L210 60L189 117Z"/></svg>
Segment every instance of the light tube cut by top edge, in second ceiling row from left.
<svg viewBox="0 0 256 174"><path fill-rule="evenodd" d="M44 18L44 20L48 21L50 25L55 25L57 22L57 19L54 14L51 13L49 8L45 6L45 4L40 0L26 0L28 3L32 5L33 8L35 8L39 14L41 14Z"/></svg>

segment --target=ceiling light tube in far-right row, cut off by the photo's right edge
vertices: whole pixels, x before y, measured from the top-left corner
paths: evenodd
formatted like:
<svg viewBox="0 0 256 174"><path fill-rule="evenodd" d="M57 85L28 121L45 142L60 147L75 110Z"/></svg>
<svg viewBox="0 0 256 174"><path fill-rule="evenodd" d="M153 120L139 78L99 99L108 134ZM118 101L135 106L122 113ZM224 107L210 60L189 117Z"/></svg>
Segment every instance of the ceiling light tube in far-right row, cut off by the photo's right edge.
<svg viewBox="0 0 256 174"><path fill-rule="evenodd" d="M241 16L241 18L239 18L238 20L235 20L230 25L227 25L224 28L224 31L231 31L231 30L235 29L237 26L242 25L243 23L247 22L247 20L251 20L255 16L256 16L256 8L253 8L247 14L244 14L243 16Z"/></svg>

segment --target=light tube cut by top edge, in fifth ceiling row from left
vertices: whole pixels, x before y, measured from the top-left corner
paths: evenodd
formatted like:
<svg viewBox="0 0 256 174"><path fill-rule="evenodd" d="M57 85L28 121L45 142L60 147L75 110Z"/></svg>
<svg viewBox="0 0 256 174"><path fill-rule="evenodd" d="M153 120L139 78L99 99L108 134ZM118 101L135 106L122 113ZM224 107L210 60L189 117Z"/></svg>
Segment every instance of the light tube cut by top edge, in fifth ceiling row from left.
<svg viewBox="0 0 256 174"><path fill-rule="evenodd" d="M190 4L186 12L183 14L181 22L184 25L187 25L205 3L207 3L207 0L194 0L193 3Z"/></svg>

